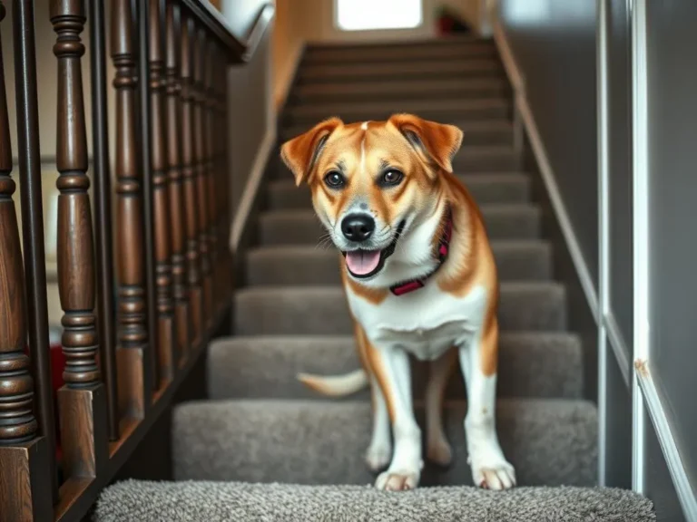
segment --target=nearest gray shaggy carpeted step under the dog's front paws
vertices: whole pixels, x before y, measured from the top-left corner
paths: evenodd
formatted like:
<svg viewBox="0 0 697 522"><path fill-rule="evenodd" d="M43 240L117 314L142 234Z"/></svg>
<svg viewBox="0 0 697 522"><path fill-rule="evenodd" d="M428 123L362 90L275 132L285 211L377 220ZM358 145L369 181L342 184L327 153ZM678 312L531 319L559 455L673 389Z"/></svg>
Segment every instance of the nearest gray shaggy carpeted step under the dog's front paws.
<svg viewBox="0 0 697 522"><path fill-rule="evenodd" d="M397 495L400 495L399 493ZM104 489L93 522L650 522L653 503L616 488L420 488L125 480Z"/></svg>

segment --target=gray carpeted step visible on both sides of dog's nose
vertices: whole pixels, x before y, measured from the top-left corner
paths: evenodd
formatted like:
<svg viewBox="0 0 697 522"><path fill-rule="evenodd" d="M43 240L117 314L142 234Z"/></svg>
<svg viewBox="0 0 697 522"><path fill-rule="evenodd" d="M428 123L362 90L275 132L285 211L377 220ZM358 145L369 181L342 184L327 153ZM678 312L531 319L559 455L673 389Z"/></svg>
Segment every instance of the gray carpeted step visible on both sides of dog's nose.
<svg viewBox="0 0 697 522"><path fill-rule="evenodd" d="M540 237L541 210L535 205L483 205L481 209L490 241ZM260 215L262 246L315 246L326 237L326 229L312 210L276 210Z"/></svg>

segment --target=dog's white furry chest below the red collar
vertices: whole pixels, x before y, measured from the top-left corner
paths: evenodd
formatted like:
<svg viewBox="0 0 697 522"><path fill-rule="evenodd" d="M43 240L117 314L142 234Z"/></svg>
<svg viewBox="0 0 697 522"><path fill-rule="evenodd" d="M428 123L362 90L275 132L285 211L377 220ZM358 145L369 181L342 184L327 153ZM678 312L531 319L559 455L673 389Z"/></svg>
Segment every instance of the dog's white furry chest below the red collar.
<svg viewBox="0 0 697 522"><path fill-rule="evenodd" d="M481 286L464 297L427 285L411 294L390 295L378 305L350 292L348 301L376 348L399 348L422 361L435 360L453 346L468 343L486 311Z"/></svg>

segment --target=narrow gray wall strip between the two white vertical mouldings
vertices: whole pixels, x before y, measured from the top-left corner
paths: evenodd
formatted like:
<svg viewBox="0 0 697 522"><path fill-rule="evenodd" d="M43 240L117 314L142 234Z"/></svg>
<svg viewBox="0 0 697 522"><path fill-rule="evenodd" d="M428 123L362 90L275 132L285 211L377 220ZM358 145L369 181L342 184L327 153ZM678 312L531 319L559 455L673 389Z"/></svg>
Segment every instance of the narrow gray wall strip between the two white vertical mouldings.
<svg viewBox="0 0 697 522"><path fill-rule="evenodd" d="M633 372L633 206L632 206L632 49L626 0L604 0L607 5L608 154L610 209L608 255L610 314L623 340L607 340L607 423L605 484L632 486L632 393L614 350L623 350Z"/></svg>

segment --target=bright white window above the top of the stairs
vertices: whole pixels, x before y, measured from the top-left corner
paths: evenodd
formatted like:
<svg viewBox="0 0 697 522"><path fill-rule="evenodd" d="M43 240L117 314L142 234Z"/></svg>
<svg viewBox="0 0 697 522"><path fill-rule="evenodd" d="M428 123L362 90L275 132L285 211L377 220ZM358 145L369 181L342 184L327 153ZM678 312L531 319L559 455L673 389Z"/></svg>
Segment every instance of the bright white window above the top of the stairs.
<svg viewBox="0 0 697 522"><path fill-rule="evenodd" d="M422 23L423 0L335 0L343 31L413 29Z"/></svg>

